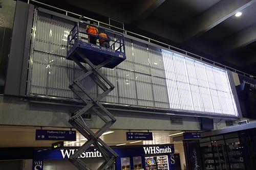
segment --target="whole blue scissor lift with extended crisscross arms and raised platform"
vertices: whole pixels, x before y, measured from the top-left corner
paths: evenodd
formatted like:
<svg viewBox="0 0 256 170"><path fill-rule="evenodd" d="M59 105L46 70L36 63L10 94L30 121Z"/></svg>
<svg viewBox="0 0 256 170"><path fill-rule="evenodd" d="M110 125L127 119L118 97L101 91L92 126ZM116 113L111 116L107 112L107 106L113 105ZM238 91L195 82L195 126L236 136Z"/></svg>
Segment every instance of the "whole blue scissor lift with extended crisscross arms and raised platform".
<svg viewBox="0 0 256 170"><path fill-rule="evenodd" d="M114 68L124 61L126 57L124 51L124 37L122 34L100 29L101 32L103 31L109 35L109 38L106 40L110 43L110 48L102 47L98 44L89 43L88 36L94 35L90 35L86 32L87 25L90 24L78 22L68 36L67 59L73 60L83 70L83 74L75 79L69 88L85 104L82 109L75 111L74 115L69 119L69 123L88 139L69 160L80 170L91 170L86 162L79 157L93 144L105 160L98 167L98 169L101 170L111 167L118 157L118 154L100 139L100 136L115 123L116 119L99 102L114 89L114 85L100 73L99 69L101 67ZM98 35L96 37L100 38ZM103 92L101 94L92 95L90 90L83 85L82 80L88 77L102 89ZM96 133L87 126L82 118L83 114L88 114L88 110L93 110L104 122L104 125Z"/></svg>

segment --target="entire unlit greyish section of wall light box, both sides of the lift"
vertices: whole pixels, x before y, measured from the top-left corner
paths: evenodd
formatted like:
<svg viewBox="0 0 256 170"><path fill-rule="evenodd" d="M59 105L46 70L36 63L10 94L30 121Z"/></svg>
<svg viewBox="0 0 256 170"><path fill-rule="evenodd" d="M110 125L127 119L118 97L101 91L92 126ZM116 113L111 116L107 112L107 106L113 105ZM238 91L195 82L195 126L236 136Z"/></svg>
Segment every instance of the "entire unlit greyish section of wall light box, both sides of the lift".
<svg viewBox="0 0 256 170"><path fill-rule="evenodd" d="M69 20L42 12L38 13L31 58L33 64L30 65L31 84L28 88L29 95L40 94L76 99L75 94L72 94L69 90L68 84L81 75L82 70L74 65L72 61L65 59L67 36L73 25ZM109 36L112 37L112 35ZM154 107L153 93L158 94L163 87L155 86L154 89L157 92L154 92L150 75L152 72L152 75L164 77L160 49L148 48L143 43L132 42L132 40L126 38L125 52L126 60L117 68L103 68L101 70L116 86L102 101ZM137 80L135 72L146 75L141 74ZM84 80L82 84L88 87L88 90L95 96L102 92L92 80ZM159 99L157 102L162 103L163 100ZM166 99L164 102L166 102Z"/></svg>

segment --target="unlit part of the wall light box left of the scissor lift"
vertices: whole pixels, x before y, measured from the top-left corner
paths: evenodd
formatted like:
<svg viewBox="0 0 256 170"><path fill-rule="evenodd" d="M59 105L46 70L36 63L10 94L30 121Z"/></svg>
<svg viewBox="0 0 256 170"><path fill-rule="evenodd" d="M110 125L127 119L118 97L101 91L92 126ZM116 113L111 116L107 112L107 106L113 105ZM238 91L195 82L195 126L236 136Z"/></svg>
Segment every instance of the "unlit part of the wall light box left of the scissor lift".
<svg viewBox="0 0 256 170"><path fill-rule="evenodd" d="M65 59L67 36L73 26L58 17L39 12L34 26L28 95L73 98L68 84L73 80L73 63Z"/></svg>

